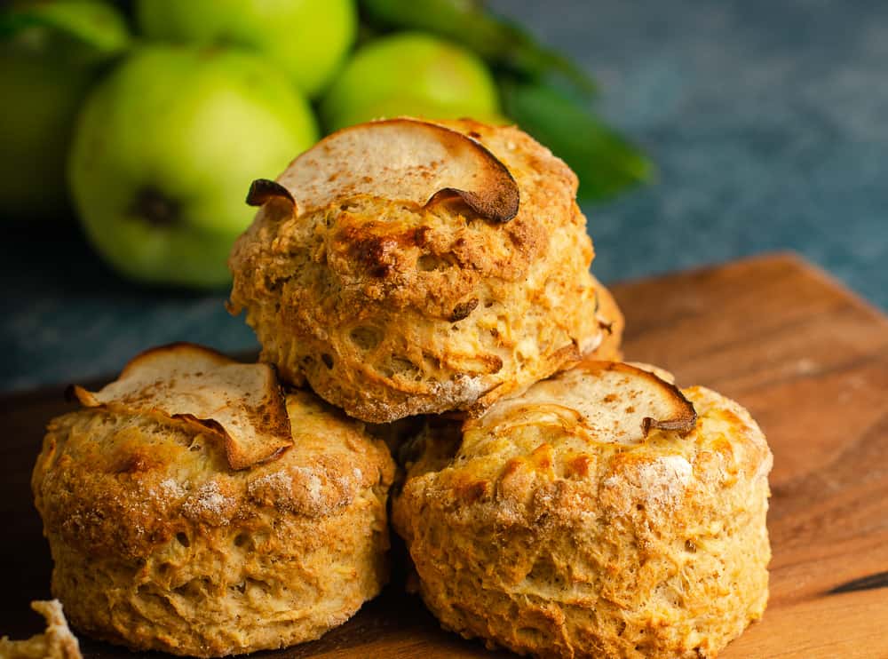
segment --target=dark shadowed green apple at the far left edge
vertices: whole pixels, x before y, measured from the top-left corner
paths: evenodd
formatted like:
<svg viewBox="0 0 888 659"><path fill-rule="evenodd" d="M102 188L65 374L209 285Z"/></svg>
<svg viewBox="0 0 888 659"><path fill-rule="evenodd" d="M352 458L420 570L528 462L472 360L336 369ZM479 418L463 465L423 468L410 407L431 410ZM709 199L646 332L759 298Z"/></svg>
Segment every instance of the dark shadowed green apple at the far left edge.
<svg viewBox="0 0 888 659"><path fill-rule="evenodd" d="M14 5L0 17L0 215L67 214L65 161L83 98L130 36L96 0Z"/></svg>

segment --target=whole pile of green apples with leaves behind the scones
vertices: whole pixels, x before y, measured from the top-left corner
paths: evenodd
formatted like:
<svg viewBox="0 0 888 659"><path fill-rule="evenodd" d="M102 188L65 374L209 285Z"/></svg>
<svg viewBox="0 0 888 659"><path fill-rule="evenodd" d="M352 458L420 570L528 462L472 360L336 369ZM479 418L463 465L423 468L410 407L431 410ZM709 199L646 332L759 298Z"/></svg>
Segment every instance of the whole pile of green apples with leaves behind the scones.
<svg viewBox="0 0 888 659"><path fill-rule="evenodd" d="M24 0L0 12L0 215L70 203L120 274L221 287L250 181L354 123L517 122L579 173L581 195L646 180L650 163L591 114L591 89L462 0Z"/></svg>

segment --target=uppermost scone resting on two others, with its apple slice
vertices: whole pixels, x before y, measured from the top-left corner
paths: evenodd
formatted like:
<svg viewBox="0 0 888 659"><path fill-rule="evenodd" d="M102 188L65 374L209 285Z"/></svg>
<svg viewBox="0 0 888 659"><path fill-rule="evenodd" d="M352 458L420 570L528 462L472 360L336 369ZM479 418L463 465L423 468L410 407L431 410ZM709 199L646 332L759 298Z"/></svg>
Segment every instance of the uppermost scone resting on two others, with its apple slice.
<svg viewBox="0 0 888 659"><path fill-rule="evenodd" d="M282 378L350 416L478 413L616 336L576 188L514 127L338 131L254 183L230 309Z"/></svg>

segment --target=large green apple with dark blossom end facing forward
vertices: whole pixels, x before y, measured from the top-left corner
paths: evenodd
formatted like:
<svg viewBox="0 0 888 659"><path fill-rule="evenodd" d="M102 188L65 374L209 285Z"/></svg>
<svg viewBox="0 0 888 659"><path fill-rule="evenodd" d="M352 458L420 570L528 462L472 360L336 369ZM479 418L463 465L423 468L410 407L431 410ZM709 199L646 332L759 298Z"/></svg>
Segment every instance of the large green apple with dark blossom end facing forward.
<svg viewBox="0 0 888 659"><path fill-rule="evenodd" d="M308 102L271 62L224 48L149 45L87 99L68 176L99 254L139 281L217 287L274 179L317 139Z"/></svg>

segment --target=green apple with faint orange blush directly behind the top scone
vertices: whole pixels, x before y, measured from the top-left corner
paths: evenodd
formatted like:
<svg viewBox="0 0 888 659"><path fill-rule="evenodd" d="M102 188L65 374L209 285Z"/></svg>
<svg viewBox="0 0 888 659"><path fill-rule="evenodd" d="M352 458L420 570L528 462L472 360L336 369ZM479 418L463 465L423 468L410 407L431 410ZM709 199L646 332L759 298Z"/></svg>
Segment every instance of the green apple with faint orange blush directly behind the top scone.
<svg viewBox="0 0 888 659"><path fill-rule="evenodd" d="M321 101L321 118L334 131L398 115L497 122L496 83L461 46L423 33L385 36L348 61Z"/></svg>

